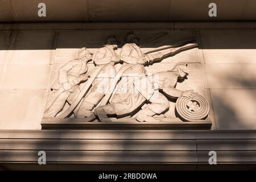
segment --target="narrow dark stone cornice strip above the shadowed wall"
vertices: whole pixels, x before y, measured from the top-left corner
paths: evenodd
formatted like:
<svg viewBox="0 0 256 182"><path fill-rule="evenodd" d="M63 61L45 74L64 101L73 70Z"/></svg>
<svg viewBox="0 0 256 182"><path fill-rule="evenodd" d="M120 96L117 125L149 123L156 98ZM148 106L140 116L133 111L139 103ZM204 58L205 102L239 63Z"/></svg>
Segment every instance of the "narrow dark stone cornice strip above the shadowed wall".
<svg viewBox="0 0 256 182"><path fill-rule="evenodd" d="M1 23L0 30L255 30L255 22Z"/></svg>

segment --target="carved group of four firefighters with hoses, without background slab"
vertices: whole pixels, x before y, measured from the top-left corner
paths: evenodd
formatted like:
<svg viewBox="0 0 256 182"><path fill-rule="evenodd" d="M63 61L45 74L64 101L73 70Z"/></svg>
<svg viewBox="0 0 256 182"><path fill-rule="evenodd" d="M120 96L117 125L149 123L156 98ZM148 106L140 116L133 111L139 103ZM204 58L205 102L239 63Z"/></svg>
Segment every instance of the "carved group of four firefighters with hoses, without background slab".
<svg viewBox="0 0 256 182"><path fill-rule="evenodd" d="M155 34L152 42L167 32ZM181 121L201 121L209 114L207 100L197 90L176 89L177 82L189 77L187 63L177 63L167 71L148 74L145 67L198 46L196 38L143 52L140 38L128 32L122 44L110 35L103 47L92 54L81 48L77 57L59 69L51 86L44 118L84 118L84 122L166 121L170 100L176 102L176 117ZM117 51L118 46L121 51ZM95 67L88 70L88 63ZM119 65L119 69L115 67ZM68 107L65 105L68 104ZM172 118L169 118L172 119Z"/></svg>

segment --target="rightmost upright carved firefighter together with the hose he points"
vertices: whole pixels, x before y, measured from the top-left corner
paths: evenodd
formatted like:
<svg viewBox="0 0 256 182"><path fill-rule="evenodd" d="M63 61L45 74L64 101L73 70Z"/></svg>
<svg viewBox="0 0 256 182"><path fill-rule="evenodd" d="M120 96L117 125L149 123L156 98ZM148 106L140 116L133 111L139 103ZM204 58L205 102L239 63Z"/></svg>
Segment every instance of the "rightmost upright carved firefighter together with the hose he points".
<svg viewBox="0 0 256 182"><path fill-rule="evenodd" d="M135 109L141 107L146 98L138 93L135 89L134 82L139 78L147 75L144 68L144 64L153 63L155 60L163 59L165 56L169 56L183 50L183 48L194 48L197 46L194 44L186 44L176 48L170 48L166 52L155 53L153 55L144 54L138 47L139 38L133 32L129 32L125 38L125 45L121 50L121 61L123 61L122 67L126 67L122 73L121 80L118 82L113 93L113 96L109 100L109 105L101 105L94 110L94 114L98 115L100 121L111 121L108 115L126 115L133 112ZM108 101L108 98L104 98ZM104 104L106 104L104 102Z"/></svg>

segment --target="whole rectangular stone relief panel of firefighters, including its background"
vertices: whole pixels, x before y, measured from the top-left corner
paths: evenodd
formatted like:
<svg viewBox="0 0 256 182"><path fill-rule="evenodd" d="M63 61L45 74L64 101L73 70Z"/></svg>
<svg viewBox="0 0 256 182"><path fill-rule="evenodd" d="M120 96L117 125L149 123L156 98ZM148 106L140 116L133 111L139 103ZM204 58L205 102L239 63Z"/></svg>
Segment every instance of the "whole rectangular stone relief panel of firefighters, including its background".
<svg viewBox="0 0 256 182"><path fill-rule="evenodd" d="M109 33L59 35L44 118L209 119L195 31Z"/></svg>

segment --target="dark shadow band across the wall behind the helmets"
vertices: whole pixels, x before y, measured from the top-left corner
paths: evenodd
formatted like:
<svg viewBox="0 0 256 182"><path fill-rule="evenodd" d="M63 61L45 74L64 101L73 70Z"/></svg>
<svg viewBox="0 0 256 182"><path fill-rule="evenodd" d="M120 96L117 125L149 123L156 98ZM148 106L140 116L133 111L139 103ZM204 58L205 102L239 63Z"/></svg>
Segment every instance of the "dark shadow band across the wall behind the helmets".
<svg viewBox="0 0 256 182"><path fill-rule="evenodd" d="M119 47L122 47L123 40L127 32L133 30L88 30L88 31L0 31L0 49L1 50L26 50L26 49L55 49L54 42L57 40L56 48L100 48L105 44L105 40L109 35L115 35L121 42ZM251 31L253 32L253 31ZM163 33L163 35L161 35ZM164 34L167 33L167 34ZM58 34L58 35L57 35ZM142 48L156 48L160 46L169 46L173 43L180 42L184 39L196 38L197 31L189 30L137 30L135 34L141 38ZM218 32L223 34L223 31ZM217 34L217 35L218 35ZM230 31L232 34L232 31ZM254 35L249 33L250 35ZM210 45L203 42L204 48L207 49L255 49L256 44L248 39L242 41L237 38L237 35L232 34L232 39L217 40L216 37L210 36ZM225 39L226 40L226 39ZM200 40L199 40L200 43ZM200 47L199 47L200 48Z"/></svg>

